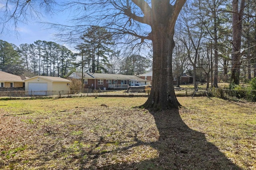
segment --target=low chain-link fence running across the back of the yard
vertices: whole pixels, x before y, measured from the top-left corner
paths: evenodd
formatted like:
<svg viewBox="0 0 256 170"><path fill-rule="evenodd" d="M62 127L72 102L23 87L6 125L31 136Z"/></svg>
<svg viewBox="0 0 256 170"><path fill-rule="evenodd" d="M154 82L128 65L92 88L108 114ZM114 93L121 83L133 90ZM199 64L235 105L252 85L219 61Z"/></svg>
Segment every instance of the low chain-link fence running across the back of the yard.
<svg viewBox="0 0 256 170"><path fill-rule="evenodd" d="M256 101L256 90L227 90L227 89L207 89L194 91L193 89L175 90L176 96L214 96L224 99L237 98L248 101ZM75 97L75 96L148 96L147 90L69 90L69 91L25 91L25 90L10 90L0 91L0 97Z"/></svg>

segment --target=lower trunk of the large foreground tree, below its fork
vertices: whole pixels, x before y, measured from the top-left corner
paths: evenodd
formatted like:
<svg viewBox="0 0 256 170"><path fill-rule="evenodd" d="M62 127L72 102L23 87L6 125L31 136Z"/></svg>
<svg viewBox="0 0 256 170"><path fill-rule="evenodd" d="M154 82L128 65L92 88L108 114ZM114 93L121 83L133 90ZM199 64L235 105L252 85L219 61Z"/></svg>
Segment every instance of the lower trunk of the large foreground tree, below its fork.
<svg viewBox="0 0 256 170"><path fill-rule="evenodd" d="M164 110L180 107L172 78L172 51L175 46L173 35L168 35L166 28L155 31L152 37L153 45L153 79L148 100L143 105L154 110ZM152 31L153 32L153 31Z"/></svg>

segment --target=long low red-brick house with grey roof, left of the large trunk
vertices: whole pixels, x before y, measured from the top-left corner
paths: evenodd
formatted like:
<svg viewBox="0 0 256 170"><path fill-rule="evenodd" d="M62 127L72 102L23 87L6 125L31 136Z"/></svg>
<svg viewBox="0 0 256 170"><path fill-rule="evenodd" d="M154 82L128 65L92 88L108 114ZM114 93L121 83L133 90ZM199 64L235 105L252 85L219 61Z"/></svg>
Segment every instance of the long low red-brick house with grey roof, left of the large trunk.
<svg viewBox="0 0 256 170"><path fill-rule="evenodd" d="M73 72L68 79L80 79L81 72ZM150 85L149 80L143 80L137 76L122 74L84 73L84 88L88 89L127 89L128 86Z"/></svg>

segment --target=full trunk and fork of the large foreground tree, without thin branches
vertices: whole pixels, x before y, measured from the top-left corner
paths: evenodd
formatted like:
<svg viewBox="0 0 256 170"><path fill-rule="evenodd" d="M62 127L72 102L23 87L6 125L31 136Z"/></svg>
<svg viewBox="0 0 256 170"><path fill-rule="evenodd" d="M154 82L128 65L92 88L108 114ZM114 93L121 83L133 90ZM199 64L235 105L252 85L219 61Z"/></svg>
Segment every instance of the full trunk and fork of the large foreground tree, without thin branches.
<svg viewBox="0 0 256 170"><path fill-rule="evenodd" d="M144 1L132 0L137 5ZM149 15L144 16L143 21L151 26L148 38L153 45L153 76L152 87L148 100L143 105L155 111L181 107L178 102L173 84L172 76L172 51L175 43L174 27L178 14L186 0L177 0L172 6L168 0L152 0L152 10ZM143 3L142 11L148 14ZM147 6L148 7L148 6Z"/></svg>

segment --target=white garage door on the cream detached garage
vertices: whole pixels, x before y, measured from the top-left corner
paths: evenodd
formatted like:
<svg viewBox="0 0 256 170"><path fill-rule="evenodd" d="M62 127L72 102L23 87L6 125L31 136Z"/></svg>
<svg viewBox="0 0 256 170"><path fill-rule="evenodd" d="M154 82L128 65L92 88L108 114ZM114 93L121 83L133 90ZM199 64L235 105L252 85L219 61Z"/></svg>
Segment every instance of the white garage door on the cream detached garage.
<svg viewBox="0 0 256 170"><path fill-rule="evenodd" d="M28 92L31 95L45 95L47 83L28 83Z"/></svg>

